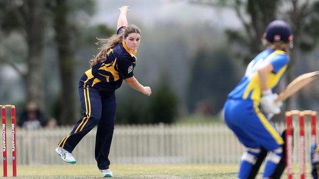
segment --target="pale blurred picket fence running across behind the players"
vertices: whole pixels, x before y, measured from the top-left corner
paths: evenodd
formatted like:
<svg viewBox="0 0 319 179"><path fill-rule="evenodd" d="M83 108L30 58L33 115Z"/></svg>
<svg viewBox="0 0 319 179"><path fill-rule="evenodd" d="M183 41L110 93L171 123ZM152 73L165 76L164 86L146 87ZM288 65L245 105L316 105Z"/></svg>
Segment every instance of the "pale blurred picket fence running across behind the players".
<svg viewBox="0 0 319 179"><path fill-rule="evenodd" d="M283 131L285 124L276 124ZM297 127L297 125L294 125ZM58 142L72 127L17 129L19 165L62 164L55 153ZM295 136L298 136L295 128ZM79 164L95 164L94 128L73 151ZM8 134L9 131L8 131ZM7 136L8 163L11 163L11 138ZM294 161L298 162L298 141L294 137ZM310 125L306 125L306 158L310 158ZM112 164L205 164L238 163L244 147L225 124L117 125L109 158Z"/></svg>

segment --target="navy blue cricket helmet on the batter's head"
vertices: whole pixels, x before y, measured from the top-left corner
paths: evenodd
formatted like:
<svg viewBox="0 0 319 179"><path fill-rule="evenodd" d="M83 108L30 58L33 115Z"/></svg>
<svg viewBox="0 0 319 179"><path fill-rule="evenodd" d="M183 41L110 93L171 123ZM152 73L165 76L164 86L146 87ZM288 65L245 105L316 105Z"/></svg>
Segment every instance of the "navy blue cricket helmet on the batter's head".
<svg viewBox="0 0 319 179"><path fill-rule="evenodd" d="M263 37L270 43L274 42L290 42L292 40L292 32L290 25L283 20L275 20L268 24Z"/></svg>

